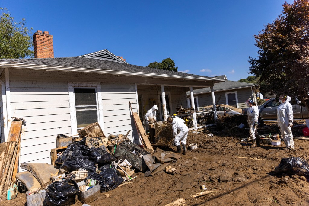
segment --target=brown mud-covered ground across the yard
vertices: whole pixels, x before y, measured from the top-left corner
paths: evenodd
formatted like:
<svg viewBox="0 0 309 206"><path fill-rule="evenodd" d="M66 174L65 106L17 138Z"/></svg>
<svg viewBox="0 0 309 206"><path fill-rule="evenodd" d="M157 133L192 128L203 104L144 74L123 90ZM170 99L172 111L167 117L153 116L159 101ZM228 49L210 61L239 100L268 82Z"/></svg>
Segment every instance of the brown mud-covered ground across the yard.
<svg viewBox="0 0 309 206"><path fill-rule="evenodd" d="M276 125L260 127L260 134L276 134ZM303 127L295 127L294 135L299 135ZM210 132L214 137L207 136ZM166 205L183 198L186 205L309 205L309 182L306 177L293 175L276 175L274 169L281 158L302 157L309 160L309 141L294 139L296 151L286 150L285 144L262 145L249 148L250 144L240 142L248 137L246 129L226 129L224 131L189 132L188 144L197 143L198 148L182 155L176 164L175 175L156 174L152 177L137 176L131 183L112 191L101 193L98 200L90 205ZM168 148L167 148L168 149ZM175 150L175 147L170 149ZM198 174L200 175L198 175ZM189 176L200 176L191 182L188 189L175 191L184 187L182 183ZM215 192L192 198L203 190ZM187 184L188 186L188 184ZM16 200L5 201L0 205L25 205L24 194ZM79 201L75 205L82 205ZM185 205L185 204L181 204Z"/></svg>

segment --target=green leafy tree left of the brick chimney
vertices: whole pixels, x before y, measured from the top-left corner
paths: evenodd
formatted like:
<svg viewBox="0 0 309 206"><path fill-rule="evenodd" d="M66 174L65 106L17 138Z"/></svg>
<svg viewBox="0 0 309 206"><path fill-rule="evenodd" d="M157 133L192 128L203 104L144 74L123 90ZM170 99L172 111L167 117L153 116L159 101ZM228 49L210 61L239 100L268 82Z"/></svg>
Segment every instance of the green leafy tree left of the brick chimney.
<svg viewBox="0 0 309 206"><path fill-rule="evenodd" d="M25 27L25 19L15 22L6 8L0 10L0 58L33 57L33 29Z"/></svg>

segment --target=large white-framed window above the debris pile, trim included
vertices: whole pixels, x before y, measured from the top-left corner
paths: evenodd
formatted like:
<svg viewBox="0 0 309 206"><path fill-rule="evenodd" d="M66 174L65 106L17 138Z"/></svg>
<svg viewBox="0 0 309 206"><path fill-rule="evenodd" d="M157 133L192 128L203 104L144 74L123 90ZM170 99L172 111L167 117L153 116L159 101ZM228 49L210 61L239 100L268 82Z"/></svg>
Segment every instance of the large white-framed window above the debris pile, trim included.
<svg viewBox="0 0 309 206"><path fill-rule="evenodd" d="M104 131L101 84L69 82L68 86L72 135L94 122Z"/></svg>

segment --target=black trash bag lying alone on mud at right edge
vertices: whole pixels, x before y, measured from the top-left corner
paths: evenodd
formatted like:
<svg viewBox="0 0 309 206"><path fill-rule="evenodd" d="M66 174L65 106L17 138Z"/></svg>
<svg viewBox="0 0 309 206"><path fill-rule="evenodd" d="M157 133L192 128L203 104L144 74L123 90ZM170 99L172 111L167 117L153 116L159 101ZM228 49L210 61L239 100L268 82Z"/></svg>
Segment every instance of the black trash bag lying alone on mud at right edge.
<svg viewBox="0 0 309 206"><path fill-rule="evenodd" d="M300 157L282 158L280 164L275 168L275 173L308 176L309 165L304 159Z"/></svg>

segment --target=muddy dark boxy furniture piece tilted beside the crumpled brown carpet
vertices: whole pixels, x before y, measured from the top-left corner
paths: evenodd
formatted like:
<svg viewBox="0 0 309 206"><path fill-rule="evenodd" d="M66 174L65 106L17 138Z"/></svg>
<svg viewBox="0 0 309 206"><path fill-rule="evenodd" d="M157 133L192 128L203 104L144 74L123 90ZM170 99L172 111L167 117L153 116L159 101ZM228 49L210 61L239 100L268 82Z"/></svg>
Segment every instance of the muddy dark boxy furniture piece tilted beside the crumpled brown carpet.
<svg viewBox="0 0 309 206"><path fill-rule="evenodd" d="M121 160L127 160L133 167L140 171L147 169L146 165L142 164L142 157L147 154L150 153L129 140L118 143L114 152L115 157Z"/></svg>

